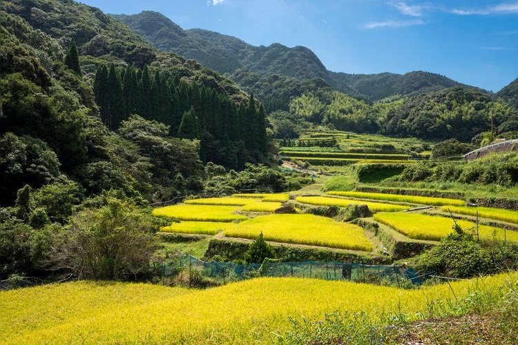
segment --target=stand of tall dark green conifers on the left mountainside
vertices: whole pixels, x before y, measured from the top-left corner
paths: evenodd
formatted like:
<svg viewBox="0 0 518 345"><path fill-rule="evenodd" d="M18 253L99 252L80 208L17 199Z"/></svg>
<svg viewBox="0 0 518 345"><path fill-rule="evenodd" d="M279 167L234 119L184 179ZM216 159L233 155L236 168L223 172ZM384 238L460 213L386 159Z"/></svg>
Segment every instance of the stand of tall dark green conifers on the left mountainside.
<svg viewBox="0 0 518 345"><path fill-rule="evenodd" d="M253 95L237 103L213 88L148 66L100 65L94 80L95 100L104 123L116 130L137 114L169 126L169 135L200 139L200 157L229 168L262 161L268 149L265 109Z"/></svg>

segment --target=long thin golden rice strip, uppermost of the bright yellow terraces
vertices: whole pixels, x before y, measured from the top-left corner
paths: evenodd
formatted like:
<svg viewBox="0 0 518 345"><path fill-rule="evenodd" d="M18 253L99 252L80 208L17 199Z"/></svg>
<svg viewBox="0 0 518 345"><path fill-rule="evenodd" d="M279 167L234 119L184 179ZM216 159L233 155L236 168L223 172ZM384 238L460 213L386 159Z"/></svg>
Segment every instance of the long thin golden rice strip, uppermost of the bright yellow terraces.
<svg viewBox="0 0 518 345"><path fill-rule="evenodd" d="M365 193L365 192L327 192L329 195L338 195L340 197L356 197L361 199L387 200L397 202L408 202L410 204L423 205L454 205L464 206L466 202L460 199L443 199L441 197L416 197L414 195L399 195L399 194L385 194L385 193Z"/></svg>

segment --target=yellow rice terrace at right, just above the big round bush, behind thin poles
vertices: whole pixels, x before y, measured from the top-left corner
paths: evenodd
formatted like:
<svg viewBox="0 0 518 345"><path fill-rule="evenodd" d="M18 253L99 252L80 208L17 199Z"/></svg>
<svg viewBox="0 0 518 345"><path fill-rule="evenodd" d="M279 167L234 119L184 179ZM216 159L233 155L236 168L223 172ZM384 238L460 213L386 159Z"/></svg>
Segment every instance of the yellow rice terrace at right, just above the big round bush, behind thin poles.
<svg viewBox="0 0 518 345"><path fill-rule="evenodd" d="M431 241L439 241L441 238L450 235L453 232L452 226L454 225L451 218L415 213L378 213L374 215L374 219L381 224L394 228L407 237ZM477 225L472 221L457 220L457 224L464 231L477 235ZM499 240L503 240L505 236L507 241L518 242L518 231L507 230L504 235L502 228L492 226L479 225L479 236L481 239L495 238Z"/></svg>

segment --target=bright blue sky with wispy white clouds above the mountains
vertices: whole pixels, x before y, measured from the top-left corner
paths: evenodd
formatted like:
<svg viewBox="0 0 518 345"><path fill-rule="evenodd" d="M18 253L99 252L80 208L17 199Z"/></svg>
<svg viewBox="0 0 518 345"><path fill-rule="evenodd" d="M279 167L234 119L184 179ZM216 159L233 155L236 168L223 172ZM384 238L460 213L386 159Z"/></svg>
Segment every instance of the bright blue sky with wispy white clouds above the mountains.
<svg viewBox="0 0 518 345"><path fill-rule="evenodd" d="M329 70L425 70L497 92L518 77L518 1L81 0L108 13L155 10L255 46L307 46Z"/></svg>

